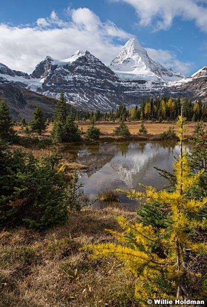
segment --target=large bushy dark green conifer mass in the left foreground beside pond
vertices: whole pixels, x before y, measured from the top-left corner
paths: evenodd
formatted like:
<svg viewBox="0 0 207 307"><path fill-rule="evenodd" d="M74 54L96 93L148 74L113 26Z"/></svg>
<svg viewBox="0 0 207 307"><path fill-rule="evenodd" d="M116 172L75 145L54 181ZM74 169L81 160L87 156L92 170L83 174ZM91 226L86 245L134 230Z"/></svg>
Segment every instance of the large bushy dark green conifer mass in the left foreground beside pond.
<svg viewBox="0 0 207 307"><path fill-rule="evenodd" d="M20 150L13 153L0 144L0 225L25 225L43 230L67 218L66 183L51 169Z"/></svg>

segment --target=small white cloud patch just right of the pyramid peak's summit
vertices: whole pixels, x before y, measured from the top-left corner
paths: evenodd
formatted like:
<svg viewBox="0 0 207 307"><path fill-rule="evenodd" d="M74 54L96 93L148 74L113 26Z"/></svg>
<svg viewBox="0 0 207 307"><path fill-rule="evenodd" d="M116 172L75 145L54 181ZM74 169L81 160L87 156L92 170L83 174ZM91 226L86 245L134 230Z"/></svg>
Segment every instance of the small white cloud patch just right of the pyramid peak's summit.
<svg viewBox="0 0 207 307"><path fill-rule="evenodd" d="M175 71L184 75L188 75L189 71L195 67L192 62L181 62L177 59L177 55L169 50L156 50L146 48L148 55L156 62L162 64L166 68L173 68Z"/></svg>

